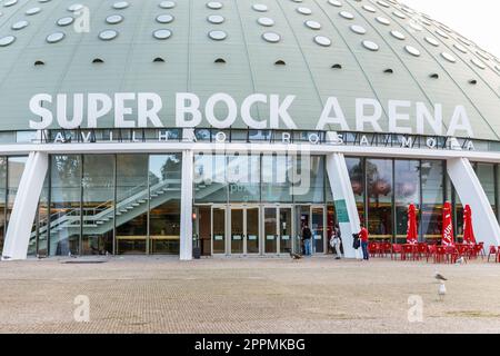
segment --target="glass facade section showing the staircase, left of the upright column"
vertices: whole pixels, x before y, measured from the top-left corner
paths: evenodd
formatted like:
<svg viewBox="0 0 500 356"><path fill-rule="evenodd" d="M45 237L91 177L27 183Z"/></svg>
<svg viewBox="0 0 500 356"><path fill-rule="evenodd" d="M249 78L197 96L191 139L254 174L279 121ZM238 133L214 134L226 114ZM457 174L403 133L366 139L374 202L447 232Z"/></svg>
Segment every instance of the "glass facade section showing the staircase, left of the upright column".
<svg viewBox="0 0 500 356"><path fill-rule="evenodd" d="M30 254L178 255L181 166L181 154L50 156Z"/></svg>

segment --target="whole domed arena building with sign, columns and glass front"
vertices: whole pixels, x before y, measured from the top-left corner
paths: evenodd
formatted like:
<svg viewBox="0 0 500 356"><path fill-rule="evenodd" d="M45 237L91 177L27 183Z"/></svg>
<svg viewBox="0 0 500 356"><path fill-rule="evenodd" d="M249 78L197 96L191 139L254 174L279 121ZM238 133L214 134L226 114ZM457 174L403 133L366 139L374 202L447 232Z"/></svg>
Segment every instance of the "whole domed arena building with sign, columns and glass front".
<svg viewBox="0 0 500 356"><path fill-rule="evenodd" d="M0 3L0 249L499 245L500 60L397 1Z"/></svg>

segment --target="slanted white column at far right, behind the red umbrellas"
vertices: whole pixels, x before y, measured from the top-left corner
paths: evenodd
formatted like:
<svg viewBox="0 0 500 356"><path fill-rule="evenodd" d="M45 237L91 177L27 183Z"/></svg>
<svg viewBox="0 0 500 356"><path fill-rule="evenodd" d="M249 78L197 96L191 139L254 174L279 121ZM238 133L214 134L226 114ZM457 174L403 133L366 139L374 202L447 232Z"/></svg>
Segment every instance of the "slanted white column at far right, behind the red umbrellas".
<svg viewBox="0 0 500 356"><path fill-rule="evenodd" d="M471 164L467 158L448 159L448 176L450 177L460 201L472 209L472 225L478 243L484 247L500 245L500 227L493 209Z"/></svg>

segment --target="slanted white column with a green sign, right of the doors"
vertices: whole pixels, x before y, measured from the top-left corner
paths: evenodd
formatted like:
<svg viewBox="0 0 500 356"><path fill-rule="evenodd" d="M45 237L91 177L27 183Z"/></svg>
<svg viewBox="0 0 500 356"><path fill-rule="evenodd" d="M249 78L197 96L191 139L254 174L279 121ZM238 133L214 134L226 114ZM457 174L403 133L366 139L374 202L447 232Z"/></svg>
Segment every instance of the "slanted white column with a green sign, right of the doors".
<svg viewBox="0 0 500 356"><path fill-rule="evenodd" d="M342 154L327 156L327 174L336 204L337 219L342 234L343 253L347 258L361 258L361 251L352 248L352 234L360 230L360 219L356 206L349 171Z"/></svg>

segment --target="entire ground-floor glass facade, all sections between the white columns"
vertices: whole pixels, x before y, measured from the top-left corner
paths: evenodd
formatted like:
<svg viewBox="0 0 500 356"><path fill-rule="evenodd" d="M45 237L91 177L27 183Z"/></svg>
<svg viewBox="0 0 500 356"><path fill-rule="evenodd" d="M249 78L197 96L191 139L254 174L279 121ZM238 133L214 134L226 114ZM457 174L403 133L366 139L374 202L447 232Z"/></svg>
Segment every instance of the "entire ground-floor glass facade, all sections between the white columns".
<svg viewBox="0 0 500 356"><path fill-rule="evenodd" d="M0 157L0 246L27 157ZM196 155L193 221L201 254L286 254L302 228L314 253L328 250L336 224L323 156ZM463 207L443 160L346 157L361 221L371 237L406 241L408 206L419 238L441 238L442 207L453 204L458 237ZM473 164L498 214L498 166ZM52 155L31 255L179 255L181 154Z"/></svg>

